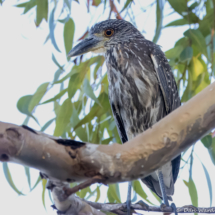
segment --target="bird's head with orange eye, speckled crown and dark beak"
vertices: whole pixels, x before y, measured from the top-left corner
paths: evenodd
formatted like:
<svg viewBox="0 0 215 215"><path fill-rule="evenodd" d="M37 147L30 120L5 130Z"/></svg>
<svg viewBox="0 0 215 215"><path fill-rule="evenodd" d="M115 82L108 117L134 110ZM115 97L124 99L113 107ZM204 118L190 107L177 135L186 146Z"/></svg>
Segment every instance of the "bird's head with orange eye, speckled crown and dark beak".
<svg viewBox="0 0 215 215"><path fill-rule="evenodd" d="M85 54L87 52L105 53L111 45L129 42L142 34L125 20L110 19L94 25L89 36L76 45L68 54L69 57Z"/></svg>

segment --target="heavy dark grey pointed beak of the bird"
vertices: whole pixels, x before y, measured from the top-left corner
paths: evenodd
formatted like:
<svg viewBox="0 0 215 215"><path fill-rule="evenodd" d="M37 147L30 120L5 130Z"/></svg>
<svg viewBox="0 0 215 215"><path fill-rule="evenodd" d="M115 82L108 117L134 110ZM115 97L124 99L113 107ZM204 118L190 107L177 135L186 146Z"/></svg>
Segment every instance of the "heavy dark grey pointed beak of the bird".
<svg viewBox="0 0 215 215"><path fill-rule="evenodd" d="M85 54L90 51L95 51L103 46L103 41L97 37L89 37L82 40L68 54L68 57L74 57Z"/></svg>

